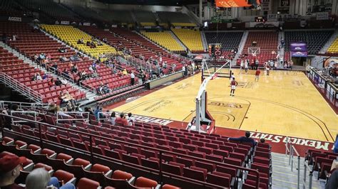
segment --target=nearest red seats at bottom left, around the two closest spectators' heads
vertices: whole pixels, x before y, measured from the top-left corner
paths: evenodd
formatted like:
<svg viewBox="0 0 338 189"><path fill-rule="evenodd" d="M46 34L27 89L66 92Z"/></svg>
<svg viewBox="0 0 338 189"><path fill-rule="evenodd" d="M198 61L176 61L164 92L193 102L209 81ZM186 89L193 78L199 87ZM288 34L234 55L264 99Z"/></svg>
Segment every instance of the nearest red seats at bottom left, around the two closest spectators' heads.
<svg viewBox="0 0 338 189"><path fill-rule="evenodd" d="M101 186L106 186L106 189L158 187L158 183L155 180L144 177L135 178L132 174L120 170L112 171L111 168L100 163L92 164L83 158L74 159L67 153L55 153L51 149L40 148L40 146L34 144L26 144L24 141L14 141L9 137L4 137L3 140L1 147L10 149L10 152L1 152L0 157L14 154L26 157L26 162L20 171L19 178L16 179L17 183L25 183L26 176L34 169L44 168L53 177L56 177L60 183L73 183L76 184L78 189L96 189ZM176 187L163 185L162 188Z"/></svg>

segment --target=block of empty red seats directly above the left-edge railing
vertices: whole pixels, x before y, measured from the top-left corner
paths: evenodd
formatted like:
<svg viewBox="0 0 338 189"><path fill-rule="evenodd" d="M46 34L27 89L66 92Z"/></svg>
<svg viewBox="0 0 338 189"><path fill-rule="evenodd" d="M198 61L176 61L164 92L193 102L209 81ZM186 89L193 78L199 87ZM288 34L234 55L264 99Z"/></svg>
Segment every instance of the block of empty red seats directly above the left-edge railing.
<svg viewBox="0 0 338 189"><path fill-rule="evenodd" d="M0 50L0 63L1 72L6 73L6 75L9 75L9 77L12 77L14 80L21 82L26 87L39 92L39 94L42 95L42 102L53 102L59 104L59 92L69 92L69 94L77 100L86 98L85 92L80 92L76 88L71 87L71 85L49 87L48 82L51 80L51 77L48 77L46 80L31 81L34 74L39 73L43 76L45 73L39 69L31 67L27 63L24 63L23 60L19 60L19 58L3 48ZM54 78L54 80L55 79L56 78Z"/></svg>

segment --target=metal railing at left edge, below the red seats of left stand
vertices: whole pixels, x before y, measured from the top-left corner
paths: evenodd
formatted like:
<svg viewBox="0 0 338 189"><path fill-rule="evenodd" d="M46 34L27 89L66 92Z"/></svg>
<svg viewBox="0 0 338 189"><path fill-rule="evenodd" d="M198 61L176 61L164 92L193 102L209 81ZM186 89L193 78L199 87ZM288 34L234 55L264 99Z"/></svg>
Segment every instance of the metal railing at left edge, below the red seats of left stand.
<svg viewBox="0 0 338 189"><path fill-rule="evenodd" d="M42 102L42 95L39 94L39 92L32 90L30 87L27 87L21 82L15 80L13 77L6 75L4 72L0 72L0 82L4 82L5 85L8 85L13 90L20 92L35 102Z"/></svg>

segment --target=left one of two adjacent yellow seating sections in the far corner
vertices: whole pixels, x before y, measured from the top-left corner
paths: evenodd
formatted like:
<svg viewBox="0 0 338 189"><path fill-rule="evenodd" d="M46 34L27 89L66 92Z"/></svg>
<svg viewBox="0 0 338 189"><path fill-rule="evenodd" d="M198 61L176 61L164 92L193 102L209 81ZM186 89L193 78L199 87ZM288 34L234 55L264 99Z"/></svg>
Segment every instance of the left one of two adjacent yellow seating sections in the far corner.
<svg viewBox="0 0 338 189"><path fill-rule="evenodd" d="M158 45L163 46L164 48L172 52L183 52L185 51L183 47L171 36L169 31L163 32L146 32L141 31L141 33L149 38L151 41L154 41Z"/></svg>

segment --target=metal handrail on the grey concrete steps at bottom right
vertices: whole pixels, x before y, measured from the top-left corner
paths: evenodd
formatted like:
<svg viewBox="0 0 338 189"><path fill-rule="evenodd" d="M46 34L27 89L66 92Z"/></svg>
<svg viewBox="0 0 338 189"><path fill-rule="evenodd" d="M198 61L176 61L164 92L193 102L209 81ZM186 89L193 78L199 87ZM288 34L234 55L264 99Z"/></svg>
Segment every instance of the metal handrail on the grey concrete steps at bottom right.
<svg viewBox="0 0 338 189"><path fill-rule="evenodd" d="M297 156L297 189L300 188L301 180L300 180L300 155L295 148L295 146L290 141L290 138L287 137L287 142L285 143L285 156L289 154L289 166L291 166L291 171L293 171L294 166L294 156ZM304 161L304 178L302 179L303 188L307 188L307 170L309 170L309 185L308 189L312 188L312 177L313 171L312 168L309 168L307 161Z"/></svg>

